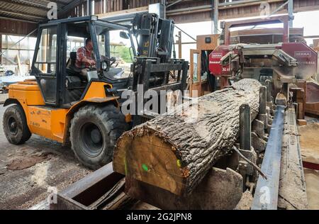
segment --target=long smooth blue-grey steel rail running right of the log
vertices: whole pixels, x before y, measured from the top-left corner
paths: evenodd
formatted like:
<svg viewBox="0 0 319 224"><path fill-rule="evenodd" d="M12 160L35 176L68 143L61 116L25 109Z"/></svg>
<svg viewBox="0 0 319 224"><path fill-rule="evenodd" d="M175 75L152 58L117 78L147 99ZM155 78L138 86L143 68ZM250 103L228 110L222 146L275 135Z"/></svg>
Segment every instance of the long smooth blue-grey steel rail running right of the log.
<svg viewBox="0 0 319 224"><path fill-rule="evenodd" d="M262 172L267 175L267 179L259 176L252 210L277 209L284 111L284 106L276 106L272 130L270 131L264 160L262 162Z"/></svg>

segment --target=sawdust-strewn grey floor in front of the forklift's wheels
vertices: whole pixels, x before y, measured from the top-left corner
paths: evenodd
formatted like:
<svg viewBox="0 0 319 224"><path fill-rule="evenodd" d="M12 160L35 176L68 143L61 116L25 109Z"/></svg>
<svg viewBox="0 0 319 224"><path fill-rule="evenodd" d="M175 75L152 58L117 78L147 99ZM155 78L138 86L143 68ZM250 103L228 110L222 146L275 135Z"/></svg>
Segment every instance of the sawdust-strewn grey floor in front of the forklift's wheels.
<svg viewBox="0 0 319 224"><path fill-rule="evenodd" d="M77 162L70 147L33 135L23 145L11 145L2 130L5 108L0 105L0 209L27 209L47 198L47 187L65 189L91 171ZM13 160L22 163L44 157L33 167L9 170Z"/></svg>

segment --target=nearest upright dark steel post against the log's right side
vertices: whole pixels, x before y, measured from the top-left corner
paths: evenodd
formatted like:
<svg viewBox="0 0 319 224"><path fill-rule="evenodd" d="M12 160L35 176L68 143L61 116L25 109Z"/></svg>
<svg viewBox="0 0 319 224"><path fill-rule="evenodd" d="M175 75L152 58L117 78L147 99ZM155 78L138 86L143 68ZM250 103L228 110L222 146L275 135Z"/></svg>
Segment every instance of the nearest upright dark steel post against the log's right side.
<svg viewBox="0 0 319 224"><path fill-rule="evenodd" d="M251 130L250 105L244 103L240 106L240 150L250 150L252 145Z"/></svg>

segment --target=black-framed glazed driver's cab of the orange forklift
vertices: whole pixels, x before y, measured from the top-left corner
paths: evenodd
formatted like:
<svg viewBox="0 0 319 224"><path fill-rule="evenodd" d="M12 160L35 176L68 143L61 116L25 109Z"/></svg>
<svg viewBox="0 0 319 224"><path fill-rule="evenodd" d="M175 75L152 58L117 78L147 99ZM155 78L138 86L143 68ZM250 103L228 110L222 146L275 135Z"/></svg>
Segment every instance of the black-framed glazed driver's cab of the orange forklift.
<svg viewBox="0 0 319 224"><path fill-rule="evenodd" d="M127 88L135 47L130 29L116 23L99 21L96 16L67 18L39 26L31 75L40 86L47 106L70 107L84 97L93 80L107 82L115 89ZM91 38L95 67L89 77L76 66L77 50ZM90 76L91 77L91 76Z"/></svg>

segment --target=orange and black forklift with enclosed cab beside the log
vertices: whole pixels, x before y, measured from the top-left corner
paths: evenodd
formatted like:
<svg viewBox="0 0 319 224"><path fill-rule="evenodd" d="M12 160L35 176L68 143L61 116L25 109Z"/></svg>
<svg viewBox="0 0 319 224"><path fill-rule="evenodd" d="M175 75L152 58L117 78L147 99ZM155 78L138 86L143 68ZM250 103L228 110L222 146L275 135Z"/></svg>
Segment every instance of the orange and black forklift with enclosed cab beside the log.
<svg viewBox="0 0 319 224"><path fill-rule="evenodd" d="M63 145L71 142L74 155L90 169L111 162L122 133L150 118L123 114L123 91L137 94L140 84L144 92L186 89L188 62L171 58L173 31L173 21L154 13L137 14L129 26L97 16L40 24L30 71L35 79L11 84L4 103L10 105L3 118L7 140L20 145L37 134ZM77 48L87 38L96 66L83 77ZM130 63L116 55L118 45Z"/></svg>

